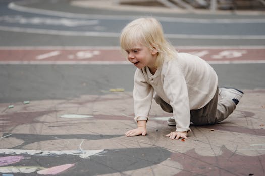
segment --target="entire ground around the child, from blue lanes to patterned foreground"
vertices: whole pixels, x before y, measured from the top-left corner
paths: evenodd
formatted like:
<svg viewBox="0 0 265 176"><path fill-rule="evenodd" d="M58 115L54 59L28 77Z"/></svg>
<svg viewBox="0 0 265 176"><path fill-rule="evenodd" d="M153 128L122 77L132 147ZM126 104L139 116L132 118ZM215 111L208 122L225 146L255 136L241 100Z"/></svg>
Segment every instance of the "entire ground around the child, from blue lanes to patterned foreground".
<svg viewBox="0 0 265 176"><path fill-rule="evenodd" d="M110 1L116 11L109 1L100 3L104 9L87 6L99 1L73 2L0 1L0 176L265 175L263 13L131 11L138 8ZM171 114L153 104L148 135L124 136L136 127L128 79L135 68L125 66L118 37L146 15L161 19L180 52L220 64L220 85L244 89L227 120L170 140ZM109 92L120 85L125 92Z"/></svg>

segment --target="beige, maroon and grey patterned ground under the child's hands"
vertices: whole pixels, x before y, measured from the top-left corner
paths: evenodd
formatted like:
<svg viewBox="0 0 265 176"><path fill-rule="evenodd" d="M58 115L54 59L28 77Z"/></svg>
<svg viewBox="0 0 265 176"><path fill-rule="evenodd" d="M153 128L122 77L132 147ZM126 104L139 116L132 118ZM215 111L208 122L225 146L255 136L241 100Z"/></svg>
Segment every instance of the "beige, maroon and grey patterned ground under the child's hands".
<svg viewBox="0 0 265 176"><path fill-rule="evenodd" d="M244 90L224 122L174 131L153 104L147 136L136 127L132 92L0 104L0 172L14 175L264 175L265 90Z"/></svg>

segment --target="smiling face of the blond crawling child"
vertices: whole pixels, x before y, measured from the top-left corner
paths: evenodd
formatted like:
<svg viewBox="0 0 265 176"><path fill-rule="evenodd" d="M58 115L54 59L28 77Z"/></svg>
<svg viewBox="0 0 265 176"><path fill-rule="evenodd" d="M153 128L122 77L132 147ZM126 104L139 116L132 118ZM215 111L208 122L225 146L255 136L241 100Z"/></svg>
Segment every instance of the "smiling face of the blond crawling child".
<svg viewBox="0 0 265 176"><path fill-rule="evenodd" d="M154 68L154 63L157 58L157 51L150 50L146 46L137 45L132 49L125 50L128 54L128 60L139 69L148 66Z"/></svg>

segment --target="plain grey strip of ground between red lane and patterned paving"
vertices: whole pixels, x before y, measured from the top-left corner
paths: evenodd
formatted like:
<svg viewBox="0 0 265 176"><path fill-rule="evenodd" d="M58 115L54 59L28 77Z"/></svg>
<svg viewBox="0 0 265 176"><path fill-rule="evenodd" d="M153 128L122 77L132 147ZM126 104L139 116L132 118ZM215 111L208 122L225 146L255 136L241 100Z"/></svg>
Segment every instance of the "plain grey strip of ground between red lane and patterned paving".
<svg viewBox="0 0 265 176"><path fill-rule="evenodd" d="M219 86L265 89L264 64L213 64ZM0 65L1 103L101 95L133 90L133 65Z"/></svg>

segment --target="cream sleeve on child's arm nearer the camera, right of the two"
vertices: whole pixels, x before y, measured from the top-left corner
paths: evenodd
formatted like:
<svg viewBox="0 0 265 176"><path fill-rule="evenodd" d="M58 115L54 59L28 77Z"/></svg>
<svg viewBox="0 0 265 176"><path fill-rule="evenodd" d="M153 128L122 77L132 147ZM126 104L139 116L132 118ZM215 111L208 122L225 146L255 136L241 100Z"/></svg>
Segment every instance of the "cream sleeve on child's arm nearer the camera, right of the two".
<svg viewBox="0 0 265 176"><path fill-rule="evenodd" d="M190 106L187 84L178 67L166 70L163 89L173 109L176 131L190 131Z"/></svg>

